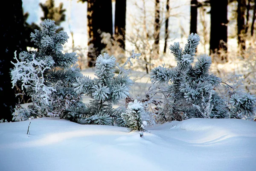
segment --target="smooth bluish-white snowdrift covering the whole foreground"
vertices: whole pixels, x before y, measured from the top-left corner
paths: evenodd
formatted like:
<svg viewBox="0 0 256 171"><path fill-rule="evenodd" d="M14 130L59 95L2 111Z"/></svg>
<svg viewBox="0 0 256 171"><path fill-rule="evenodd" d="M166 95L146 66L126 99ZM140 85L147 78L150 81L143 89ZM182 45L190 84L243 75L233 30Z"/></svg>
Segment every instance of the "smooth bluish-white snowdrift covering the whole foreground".
<svg viewBox="0 0 256 171"><path fill-rule="evenodd" d="M140 132L59 118L0 123L0 171L255 171L256 122L187 119Z"/></svg>

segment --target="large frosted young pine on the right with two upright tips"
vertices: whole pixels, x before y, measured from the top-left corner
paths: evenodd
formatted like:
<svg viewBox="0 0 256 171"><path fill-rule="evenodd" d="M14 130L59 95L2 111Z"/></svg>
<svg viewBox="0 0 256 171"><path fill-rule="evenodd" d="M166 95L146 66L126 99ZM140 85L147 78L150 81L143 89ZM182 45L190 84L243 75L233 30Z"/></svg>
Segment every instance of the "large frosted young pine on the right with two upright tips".
<svg viewBox="0 0 256 171"><path fill-rule="evenodd" d="M202 55L192 66L195 50L200 38L197 34L189 35L184 50L179 43L170 46L175 56L177 67L169 69L156 67L151 70L151 82L164 86L166 101L159 113L166 121L188 118L224 118L226 109L224 101L215 92L221 79L209 74L211 58Z"/></svg>

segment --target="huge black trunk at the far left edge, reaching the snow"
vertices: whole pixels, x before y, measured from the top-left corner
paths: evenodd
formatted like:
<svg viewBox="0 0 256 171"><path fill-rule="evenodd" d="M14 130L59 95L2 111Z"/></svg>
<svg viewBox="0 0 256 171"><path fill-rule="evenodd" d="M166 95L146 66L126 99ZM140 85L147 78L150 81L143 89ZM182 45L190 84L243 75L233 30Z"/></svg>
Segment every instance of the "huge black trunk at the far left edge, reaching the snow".
<svg viewBox="0 0 256 171"><path fill-rule="evenodd" d="M3 44L0 46L0 119L12 121L15 109L15 90L12 89L10 69L14 67L11 61L14 52L18 54L26 49L23 46L22 32L24 30L22 0L3 1L0 17L0 35Z"/></svg>

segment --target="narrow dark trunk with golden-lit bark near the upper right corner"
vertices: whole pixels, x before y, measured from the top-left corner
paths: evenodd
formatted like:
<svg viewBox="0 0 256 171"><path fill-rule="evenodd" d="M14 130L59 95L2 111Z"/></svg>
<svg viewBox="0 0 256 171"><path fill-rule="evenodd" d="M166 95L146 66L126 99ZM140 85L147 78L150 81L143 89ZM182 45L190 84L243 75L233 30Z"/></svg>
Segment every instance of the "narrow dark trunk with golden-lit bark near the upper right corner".
<svg viewBox="0 0 256 171"><path fill-rule="evenodd" d="M245 50L245 11L246 0L237 0L237 39L240 54L243 56Z"/></svg>

